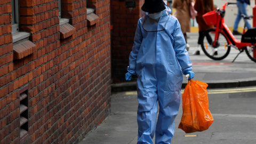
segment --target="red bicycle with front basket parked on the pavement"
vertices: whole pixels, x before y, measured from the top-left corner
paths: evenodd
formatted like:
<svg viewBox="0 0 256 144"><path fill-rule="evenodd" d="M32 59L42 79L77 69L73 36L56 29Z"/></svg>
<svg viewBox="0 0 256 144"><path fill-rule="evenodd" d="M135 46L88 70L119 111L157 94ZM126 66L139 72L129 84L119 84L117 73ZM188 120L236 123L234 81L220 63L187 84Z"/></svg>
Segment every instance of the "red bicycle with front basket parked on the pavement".
<svg viewBox="0 0 256 144"><path fill-rule="evenodd" d="M248 57L256 62L256 28L250 28L245 32L246 25L244 25L244 34L241 41L238 41L224 22L225 9L229 4L236 3L225 3L222 9L218 8L203 15L206 24L214 25L214 28L206 30L201 39L201 47L205 55L213 60L226 58L232 46L240 51L235 59L245 50ZM252 19L253 15L242 15L242 17L244 19Z"/></svg>

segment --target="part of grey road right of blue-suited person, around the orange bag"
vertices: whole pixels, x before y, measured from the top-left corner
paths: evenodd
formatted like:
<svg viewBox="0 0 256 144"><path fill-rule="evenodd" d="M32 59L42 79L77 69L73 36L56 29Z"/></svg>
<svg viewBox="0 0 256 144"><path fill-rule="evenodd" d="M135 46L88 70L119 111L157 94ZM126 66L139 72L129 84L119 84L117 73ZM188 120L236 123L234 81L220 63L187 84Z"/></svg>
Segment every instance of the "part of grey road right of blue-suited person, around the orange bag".
<svg viewBox="0 0 256 144"><path fill-rule="evenodd" d="M214 118L210 128L186 134L178 129L178 115L173 143L256 143L256 87L208 90L208 97Z"/></svg>

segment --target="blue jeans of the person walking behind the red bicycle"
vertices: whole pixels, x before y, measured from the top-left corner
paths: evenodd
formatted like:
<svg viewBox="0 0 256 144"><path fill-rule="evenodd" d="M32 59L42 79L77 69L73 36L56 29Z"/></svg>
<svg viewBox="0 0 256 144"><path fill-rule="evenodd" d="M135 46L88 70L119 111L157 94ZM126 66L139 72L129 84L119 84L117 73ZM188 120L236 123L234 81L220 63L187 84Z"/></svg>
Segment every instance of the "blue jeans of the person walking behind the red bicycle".
<svg viewBox="0 0 256 144"><path fill-rule="evenodd" d="M236 21L235 21L235 25L234 25L234 30L237 31L238 23L242 19L241 14L244 14L244 15L248 15L248 14L246 12L246 6L247 6L246 3L241 3L239 1L236 1L236 5L238 7L238 13L237 13L237 17L236 17ZM248 29L251 28L251 25L248 20L246 20L246 27Z"/></svg>

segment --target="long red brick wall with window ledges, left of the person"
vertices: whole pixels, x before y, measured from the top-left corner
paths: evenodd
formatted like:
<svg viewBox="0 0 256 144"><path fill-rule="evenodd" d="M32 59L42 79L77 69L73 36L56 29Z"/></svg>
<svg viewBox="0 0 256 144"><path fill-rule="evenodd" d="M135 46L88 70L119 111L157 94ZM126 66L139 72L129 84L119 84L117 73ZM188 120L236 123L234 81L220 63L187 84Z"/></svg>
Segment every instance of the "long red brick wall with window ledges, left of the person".
<svg viewBox="0 0 256 144"><path fill-rule="evenodd" d="M13 60L11 0L0 1L0 143L20 142L19 91L28 87L28 143L77 143L110 108L110 1L62 0L75 33L60 38L57 0L20 0L20 31L36 51Z"/></svg>

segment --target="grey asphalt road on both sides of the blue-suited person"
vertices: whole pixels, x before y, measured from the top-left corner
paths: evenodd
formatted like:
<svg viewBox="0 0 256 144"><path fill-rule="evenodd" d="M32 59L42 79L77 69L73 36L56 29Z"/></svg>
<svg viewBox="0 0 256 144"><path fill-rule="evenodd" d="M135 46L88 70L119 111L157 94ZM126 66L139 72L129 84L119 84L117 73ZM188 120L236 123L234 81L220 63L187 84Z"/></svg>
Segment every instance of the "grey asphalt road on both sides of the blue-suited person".
<svg viewBox="0 0 256 144"><path fill-rule="evenodd" d="M172 143L256 143L256 86L207 89L207 92L213 124L206 131L186 134L178 129L180 105ZM79 144L137 143L137 107L136 91L112 94L110 116Z"/></svg>

